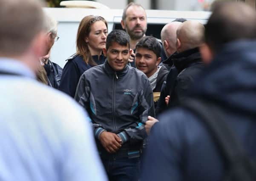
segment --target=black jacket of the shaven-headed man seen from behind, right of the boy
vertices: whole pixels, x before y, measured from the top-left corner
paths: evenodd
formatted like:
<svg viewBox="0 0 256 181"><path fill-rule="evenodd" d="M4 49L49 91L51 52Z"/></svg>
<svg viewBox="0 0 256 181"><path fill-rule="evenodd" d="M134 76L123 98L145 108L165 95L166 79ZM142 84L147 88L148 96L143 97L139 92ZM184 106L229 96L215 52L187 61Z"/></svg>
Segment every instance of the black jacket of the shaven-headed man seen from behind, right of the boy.
<svg viewBox="0 0 256 181"><path fill-rule="evenodd" d="M201 55L198 48L186 50L170 56L173 67L167 75L166 84L163 86L163 94L158 101L157 112L160 114L167 108L177 106L187 96L188 89L194 83L195 78L204 69ZM165 97L170 95L168 106L165 104Z"/></svg>

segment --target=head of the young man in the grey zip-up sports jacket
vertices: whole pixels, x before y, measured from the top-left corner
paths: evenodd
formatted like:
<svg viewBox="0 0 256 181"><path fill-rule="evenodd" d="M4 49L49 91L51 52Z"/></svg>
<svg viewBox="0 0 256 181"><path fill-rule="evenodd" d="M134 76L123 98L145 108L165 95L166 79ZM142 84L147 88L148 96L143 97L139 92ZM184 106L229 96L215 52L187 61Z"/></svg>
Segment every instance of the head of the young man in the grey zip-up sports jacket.
<svg viewBox="0 0 256 181"><path fill-rule="evenodd" d="M114 30L106 38L106 48L103 53L115 71L121 71L127 65L132 50L130 50L129 35L123 30Z"/></svg>

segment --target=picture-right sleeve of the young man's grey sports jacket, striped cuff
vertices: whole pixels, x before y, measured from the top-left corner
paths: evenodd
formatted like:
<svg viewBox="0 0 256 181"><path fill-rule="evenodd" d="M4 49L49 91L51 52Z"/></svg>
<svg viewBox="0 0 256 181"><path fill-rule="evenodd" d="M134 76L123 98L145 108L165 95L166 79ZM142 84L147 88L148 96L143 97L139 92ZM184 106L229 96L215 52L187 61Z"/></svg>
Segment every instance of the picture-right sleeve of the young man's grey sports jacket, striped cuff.
<svg viewBox="0 0 256 181"><path fill-rule="evenodd" d="M136 122L138 126L135 128L127 128L118 136L122 139L122 142L139 142L147 137L145 130L145 124L148 120L148 116L155 117L155 108L153 100L153 92L150 86L149 80L145 80L144 89L141 90L138 100L138 114L139 120Z"/></svg>

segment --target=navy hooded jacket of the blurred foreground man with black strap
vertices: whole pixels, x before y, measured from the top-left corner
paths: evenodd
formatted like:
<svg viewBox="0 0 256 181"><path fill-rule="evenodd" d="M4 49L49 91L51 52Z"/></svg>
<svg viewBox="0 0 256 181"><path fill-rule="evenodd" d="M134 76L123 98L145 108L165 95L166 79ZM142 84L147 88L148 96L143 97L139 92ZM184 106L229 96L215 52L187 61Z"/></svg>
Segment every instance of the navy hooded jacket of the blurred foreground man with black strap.
<svg viewBox="0 0 256 181"><path fill-rule="evenodd" d="M255 57L254 41L224 45L189 94L212 101L225 110L227 125L254 160ZM192 112L177 108L163 114L152 128L150 141L141 181L224 180L224 159L203 122Z"/></svg>

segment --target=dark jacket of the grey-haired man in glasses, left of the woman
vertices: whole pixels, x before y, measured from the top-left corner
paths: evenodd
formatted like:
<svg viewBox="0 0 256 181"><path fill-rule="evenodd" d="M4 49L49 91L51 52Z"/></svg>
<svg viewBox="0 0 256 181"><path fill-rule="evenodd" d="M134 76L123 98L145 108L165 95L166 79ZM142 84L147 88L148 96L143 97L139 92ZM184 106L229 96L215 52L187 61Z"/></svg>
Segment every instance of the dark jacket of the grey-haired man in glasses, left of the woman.
<svg viewBox="0 0 256 181"><path fill-rule="evenodd" d="M47 64L45 64L43 67L47 74L48 85L54 87L55 89L58 89L60 86L62 68L58 64L50 61L49 59Z"/></svg>

